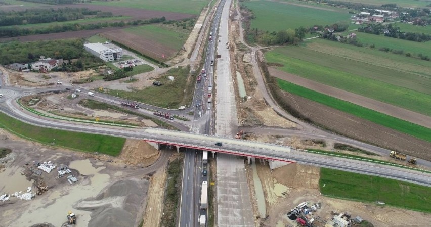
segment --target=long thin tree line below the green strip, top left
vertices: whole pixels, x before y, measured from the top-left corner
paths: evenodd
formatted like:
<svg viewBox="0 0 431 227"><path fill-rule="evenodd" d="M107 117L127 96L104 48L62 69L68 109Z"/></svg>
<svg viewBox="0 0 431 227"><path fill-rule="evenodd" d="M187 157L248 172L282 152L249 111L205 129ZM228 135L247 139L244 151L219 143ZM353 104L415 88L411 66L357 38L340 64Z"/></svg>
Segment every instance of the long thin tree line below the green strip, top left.
<svg viewBox="0 0 431 227"><path fill-rule="evenodd" d="M0 37L17 37L17 36L25 36L25 35L37 35L37 34L50 34L50 33L59 33L66 31L80 31L80 30L94 30L106 27L123 27L130 25L144 25L150 23L159 23L165 21L165 17L161 18L152 18L149 20L136 20L136 21L120 21L120 22L99 22L97 24L62 24L62 25L52 25L43 28L17 28L17 27L0 27Z"/></svg>

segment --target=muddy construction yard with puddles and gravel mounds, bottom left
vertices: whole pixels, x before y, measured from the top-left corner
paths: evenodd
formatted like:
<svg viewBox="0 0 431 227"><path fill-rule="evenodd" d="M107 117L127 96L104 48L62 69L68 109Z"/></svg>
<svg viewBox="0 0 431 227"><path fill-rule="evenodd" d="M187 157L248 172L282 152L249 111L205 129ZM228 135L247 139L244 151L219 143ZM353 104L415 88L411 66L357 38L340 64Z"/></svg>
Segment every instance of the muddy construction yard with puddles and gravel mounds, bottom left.
<svg viewBox="0 0 431 227"><path fill-rule="evenodd" d="M164 185L152 175L164 171L169 150L127 140L118 157L80 153L3 129L0 141L0 226L137 226L144 213L159 217L160 209L145 212L147 193L150 182Z"/></svg>

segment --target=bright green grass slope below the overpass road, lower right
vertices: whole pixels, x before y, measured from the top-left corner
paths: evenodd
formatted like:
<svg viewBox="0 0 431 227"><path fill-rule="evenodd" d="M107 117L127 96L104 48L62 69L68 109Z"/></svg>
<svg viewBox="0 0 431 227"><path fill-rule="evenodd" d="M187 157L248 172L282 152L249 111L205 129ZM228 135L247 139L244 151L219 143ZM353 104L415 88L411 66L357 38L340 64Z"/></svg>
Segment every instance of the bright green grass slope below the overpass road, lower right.
<svg viewBox="0 0 431 227"><path fill-rule="evenodd" d="M382 201L390 206L431 213L431 188L426 186L321 168L319 187L325 196L371 203Z"/></svg>

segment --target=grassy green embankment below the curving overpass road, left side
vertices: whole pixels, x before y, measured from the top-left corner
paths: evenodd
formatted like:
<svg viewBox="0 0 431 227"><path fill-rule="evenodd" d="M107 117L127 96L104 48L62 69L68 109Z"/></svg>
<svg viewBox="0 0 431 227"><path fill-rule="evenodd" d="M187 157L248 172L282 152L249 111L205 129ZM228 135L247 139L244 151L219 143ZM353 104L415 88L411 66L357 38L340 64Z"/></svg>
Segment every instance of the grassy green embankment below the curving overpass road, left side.
<svg viewBox="0 0 431 227"><path fill-rule="evenodd" d="M84 152L98 151L112 156L119 155L125 143L125 138L38 127L11 118L3 113L0 113L0 127L22 138L42 144L61 146Z"/></svg>

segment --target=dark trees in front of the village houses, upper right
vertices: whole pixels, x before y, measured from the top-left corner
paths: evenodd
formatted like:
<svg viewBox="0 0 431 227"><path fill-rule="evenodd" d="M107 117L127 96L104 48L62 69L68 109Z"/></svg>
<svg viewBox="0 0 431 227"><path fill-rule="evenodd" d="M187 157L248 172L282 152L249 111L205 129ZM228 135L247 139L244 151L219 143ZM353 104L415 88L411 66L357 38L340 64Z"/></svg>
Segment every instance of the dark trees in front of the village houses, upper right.
<svg viewBox="0 0 431 227"><path fill-rule="evenodd" d="M375 35L384 34L384 36L405 39L416 42L425 42L431 39L431 35L417 32L402 32L399 27L393 26L392 24L383 25L375 24L365 27L358 28L358 31L371 33Z"/></svg>

